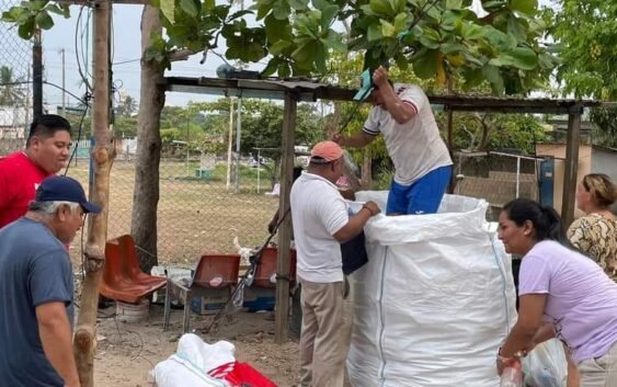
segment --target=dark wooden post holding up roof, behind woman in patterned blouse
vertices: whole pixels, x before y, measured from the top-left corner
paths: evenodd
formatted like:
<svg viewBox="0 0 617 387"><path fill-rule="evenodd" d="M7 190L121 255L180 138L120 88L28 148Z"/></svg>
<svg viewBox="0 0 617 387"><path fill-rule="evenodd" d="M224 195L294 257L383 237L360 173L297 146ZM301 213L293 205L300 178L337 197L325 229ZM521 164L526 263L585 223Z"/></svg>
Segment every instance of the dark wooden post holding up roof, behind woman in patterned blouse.
<svg viewBox="0 0 617 387"><path fill-rule="evenodd" d="M561 218L565 227L574 220L574 202L576 197L576 177L579 174L579 146L581 138L581 114L583 107L575 104L568 113L568 143L565 145L565 171L563 173L563 192L561 197Z"/></svg>

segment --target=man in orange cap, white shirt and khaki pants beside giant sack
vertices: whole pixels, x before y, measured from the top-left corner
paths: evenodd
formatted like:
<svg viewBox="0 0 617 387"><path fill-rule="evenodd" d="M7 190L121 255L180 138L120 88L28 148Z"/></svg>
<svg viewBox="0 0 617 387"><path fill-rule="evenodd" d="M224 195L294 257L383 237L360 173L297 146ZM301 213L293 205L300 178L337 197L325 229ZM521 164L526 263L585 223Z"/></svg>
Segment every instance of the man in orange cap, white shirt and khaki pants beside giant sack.
<svg viewBox="0 0 617 387"><path fill-rule="evenodd" d="M292 186L292 221L297 252L297 276L302 287L300 386L342 387L349 340L344 338L340 242L352 239L379 214L367 202L349 215L336 180L343 173L343 149L333 141L317 144L308 171Z"/></svg>

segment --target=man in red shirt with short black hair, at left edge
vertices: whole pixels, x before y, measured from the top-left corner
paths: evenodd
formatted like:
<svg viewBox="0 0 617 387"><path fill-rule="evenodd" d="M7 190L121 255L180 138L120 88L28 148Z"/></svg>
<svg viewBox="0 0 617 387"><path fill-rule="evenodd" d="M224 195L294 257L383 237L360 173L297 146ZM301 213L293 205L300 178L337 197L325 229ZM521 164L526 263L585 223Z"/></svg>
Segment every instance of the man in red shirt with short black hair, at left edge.
<svg viewBox="0 0 617 387"><path fill-rule="evenodd" d="M71 125L55 114L45 114L30 126L25 150L0 159L0 228L27 212L38 184L67 166Z"/></svg>

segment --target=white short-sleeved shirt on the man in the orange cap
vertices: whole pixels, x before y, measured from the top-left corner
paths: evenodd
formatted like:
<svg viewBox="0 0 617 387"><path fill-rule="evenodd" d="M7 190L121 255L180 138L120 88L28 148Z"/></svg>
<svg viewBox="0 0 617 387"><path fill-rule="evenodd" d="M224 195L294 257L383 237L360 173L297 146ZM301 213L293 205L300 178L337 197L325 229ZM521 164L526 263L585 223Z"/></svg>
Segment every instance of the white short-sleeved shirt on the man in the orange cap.
<svg viewBox="0 0 617 387"><path fill-rule="evenodd" d="M341 244L332 237L350 220L347 203L334 184L308 172L292 186L292 221L297 275L306 281L343 281Z"/></svg>

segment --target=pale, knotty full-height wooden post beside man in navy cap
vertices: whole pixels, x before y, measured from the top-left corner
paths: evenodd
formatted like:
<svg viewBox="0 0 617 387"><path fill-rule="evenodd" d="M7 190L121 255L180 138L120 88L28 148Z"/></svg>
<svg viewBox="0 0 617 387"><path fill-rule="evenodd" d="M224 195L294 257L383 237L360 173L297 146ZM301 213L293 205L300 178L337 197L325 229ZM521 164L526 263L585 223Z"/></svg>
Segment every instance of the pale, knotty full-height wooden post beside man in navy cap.
<svg viewBox="0 0 617 387"><path fill-rule="evenodd" d="M92 149L94 173L90 182L90 200L103 210L91 218L84 249L85 280L80 299L80 309L75 329L75 355L82 387L94 386L94 353L96 351L96 307L99 285L105 260L104 247L107 231L110 196L110 170L114 158L110 124L110 13L111 2L93 4L93 78L94 103L92 106Z"/></svg>

